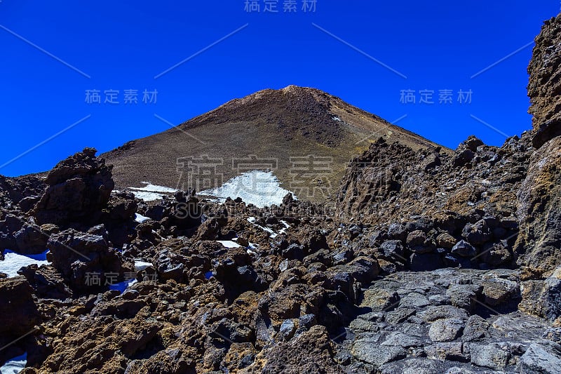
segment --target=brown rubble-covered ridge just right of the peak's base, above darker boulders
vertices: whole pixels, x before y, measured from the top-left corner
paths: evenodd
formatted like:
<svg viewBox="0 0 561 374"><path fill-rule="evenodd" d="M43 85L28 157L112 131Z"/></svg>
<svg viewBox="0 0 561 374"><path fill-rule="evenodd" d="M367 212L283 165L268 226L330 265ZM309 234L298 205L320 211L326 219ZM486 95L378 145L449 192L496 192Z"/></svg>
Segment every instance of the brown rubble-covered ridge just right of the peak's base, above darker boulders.
<svg viewBox="0 0 561 374"><path fill-rule="evenodd" d="M445 211L509 217L516 211L516 193L532 150L528 133L500 148L470 137L450 155L379 140L349 164L337 211L341 218L370 224L421 213L437 218Z"/></svg>

